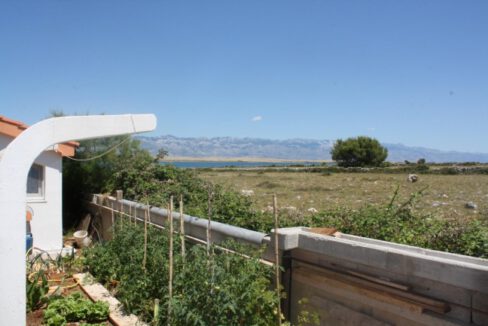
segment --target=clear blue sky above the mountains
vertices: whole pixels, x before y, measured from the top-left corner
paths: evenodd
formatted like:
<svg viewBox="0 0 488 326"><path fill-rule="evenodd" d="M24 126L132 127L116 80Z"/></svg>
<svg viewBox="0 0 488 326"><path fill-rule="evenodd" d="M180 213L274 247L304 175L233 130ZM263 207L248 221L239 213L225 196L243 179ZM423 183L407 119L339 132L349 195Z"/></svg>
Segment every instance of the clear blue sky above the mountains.
<svg viewBox="0 0 488 326"><path fill-rule="evenodd" d="M0 114L488 152L488 1L2 1Z"/></svg>

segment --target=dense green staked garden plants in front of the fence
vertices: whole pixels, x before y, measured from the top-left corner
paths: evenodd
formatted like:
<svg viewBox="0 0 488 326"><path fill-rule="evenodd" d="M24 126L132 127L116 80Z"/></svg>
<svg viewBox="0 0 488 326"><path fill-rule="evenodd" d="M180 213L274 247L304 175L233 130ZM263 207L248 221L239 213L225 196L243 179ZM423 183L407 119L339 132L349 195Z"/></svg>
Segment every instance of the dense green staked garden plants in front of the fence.
<svg viewBox="0 0 488 326"><path fill-rule="evenodd" d="M89 271L112 289L128 312L158 325L166 325L168 318L173 325L275 323L278 299L271 287L272 269L259 262L259 252L248 259L212 248L215 254L208 256L204 247L195 245L183 260L175 240L170 301L167 231L149 227L147 239L145 266L142 225L119 223L113 240L85 251ZM236 244L232 248L243 249Z"/></svg>

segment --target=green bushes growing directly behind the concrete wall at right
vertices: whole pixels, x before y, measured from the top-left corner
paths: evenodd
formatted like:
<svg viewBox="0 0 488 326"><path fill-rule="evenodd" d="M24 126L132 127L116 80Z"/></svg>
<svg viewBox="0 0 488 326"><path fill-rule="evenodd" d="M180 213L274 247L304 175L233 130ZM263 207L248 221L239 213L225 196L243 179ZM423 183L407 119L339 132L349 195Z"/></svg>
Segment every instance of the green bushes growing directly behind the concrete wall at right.
<svg viewBox="0 0 488 326"><path fill-rule="evenodd" d="M478 219L446 220L432 214L414 213L412 207L422 192L398 202L398 189L388 205L322 211L305 217L301 225L335 227L343 233L403 243L422 248L488 258L488 223ZM294 225L288 219L284 223Z"/></svg>

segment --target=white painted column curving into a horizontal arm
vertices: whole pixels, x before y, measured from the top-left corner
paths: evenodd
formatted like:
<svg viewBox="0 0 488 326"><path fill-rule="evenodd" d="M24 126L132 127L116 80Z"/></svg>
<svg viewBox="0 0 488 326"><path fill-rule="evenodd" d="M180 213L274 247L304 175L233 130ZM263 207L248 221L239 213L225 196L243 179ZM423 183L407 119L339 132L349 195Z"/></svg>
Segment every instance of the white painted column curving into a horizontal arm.
<svg viewBox="0 0 488 326"><path fill-rule="evenodd" d="M27 128L0 159L0 325L25 325L25 208L29 169L47 147L154 130L153 114L51 118Z"/></svg>

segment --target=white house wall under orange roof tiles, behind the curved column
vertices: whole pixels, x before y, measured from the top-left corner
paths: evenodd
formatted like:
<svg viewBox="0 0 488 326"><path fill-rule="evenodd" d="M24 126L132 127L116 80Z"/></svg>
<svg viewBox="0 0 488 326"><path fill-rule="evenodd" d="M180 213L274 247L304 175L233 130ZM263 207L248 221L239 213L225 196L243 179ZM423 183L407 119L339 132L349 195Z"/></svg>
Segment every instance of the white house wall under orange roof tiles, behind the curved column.
<svg viewBox="0 0 488 326"><path fill-rule="evenodd" d="M12 138L0 135L0 150ZM27 205L34 210L31 230L34 247L43 250L63 247L62 215L62 159L53 151L43 152L35 162L44 166L44 195L42 198L27 197Z"/></svg>

